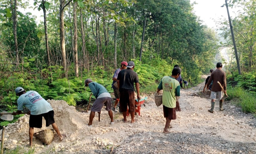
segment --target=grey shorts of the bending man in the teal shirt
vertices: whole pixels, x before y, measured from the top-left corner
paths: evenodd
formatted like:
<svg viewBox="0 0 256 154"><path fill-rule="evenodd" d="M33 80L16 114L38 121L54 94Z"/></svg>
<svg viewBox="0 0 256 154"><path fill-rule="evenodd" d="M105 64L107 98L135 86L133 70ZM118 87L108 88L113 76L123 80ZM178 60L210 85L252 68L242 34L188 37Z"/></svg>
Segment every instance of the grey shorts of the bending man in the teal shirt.
<svg viewBox="0 0 256 154"><path fill-rule="evenodd" d="M111 110L111 98L110 97L102 97L102 98L97 98L95 100L95 102L93 103L93 105L91 107L91 111L100 112L104 104L106 106L107 111Z"/></svg>

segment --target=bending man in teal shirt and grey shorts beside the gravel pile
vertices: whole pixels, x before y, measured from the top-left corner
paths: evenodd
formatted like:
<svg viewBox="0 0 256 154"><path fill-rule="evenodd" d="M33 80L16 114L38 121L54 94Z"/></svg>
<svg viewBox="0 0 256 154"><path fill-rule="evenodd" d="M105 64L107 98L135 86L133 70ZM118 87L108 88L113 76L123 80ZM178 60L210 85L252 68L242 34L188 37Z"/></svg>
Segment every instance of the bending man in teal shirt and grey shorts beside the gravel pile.
<svg viewBox="0 0 256 154"><path fill-rule="evenodd" d="M89 117L89 123L88 126L92 127L92 120L95 116L95 112L100 113L103 105L106 105L106 109L108 111L109 117L111 119L110 124L114 124L114 119L113 119L113 113L111 110L111 96L110 93L106 90L104 86L102 86L99 83L92 82L91 79L86 79L84 81L85 86L89 86L90 90L92 91L93 95L95 96L96 100L93 103L91 107L91 113Z"/></svg>

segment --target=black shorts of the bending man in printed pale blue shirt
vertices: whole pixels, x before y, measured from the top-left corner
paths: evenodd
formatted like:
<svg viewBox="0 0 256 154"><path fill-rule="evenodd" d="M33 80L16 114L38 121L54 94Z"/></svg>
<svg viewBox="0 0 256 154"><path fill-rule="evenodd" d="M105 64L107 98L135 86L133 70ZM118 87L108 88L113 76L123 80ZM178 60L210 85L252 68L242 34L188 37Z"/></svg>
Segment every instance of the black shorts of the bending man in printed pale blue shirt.
<svg viewBox="0 0 256 154"><path fill-rule="evenodd" d="M45 119L46 127L51 124L54 124L54 111L51 110L47 113L39 114L39 115L30 115L29 117L29 127L42 128L42 120L43 117Z"/></svg>

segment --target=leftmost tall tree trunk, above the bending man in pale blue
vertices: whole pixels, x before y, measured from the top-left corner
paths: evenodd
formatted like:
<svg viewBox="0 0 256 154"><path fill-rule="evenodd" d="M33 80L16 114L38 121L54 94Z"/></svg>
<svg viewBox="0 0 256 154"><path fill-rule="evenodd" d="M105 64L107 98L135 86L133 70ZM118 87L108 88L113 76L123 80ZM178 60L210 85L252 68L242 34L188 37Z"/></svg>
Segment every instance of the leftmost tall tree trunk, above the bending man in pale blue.
<svg viewBox="0 0 256 154"><path fill-rule="evenodd" d="M15 54L16 54L16 66L19 63L19 52L18 52L18 40L17 40L17 0L10 0L11 2L11 9L13 15L13 36L14 36L14 45L15 45Z"/></svg>

